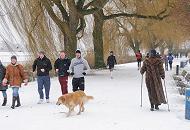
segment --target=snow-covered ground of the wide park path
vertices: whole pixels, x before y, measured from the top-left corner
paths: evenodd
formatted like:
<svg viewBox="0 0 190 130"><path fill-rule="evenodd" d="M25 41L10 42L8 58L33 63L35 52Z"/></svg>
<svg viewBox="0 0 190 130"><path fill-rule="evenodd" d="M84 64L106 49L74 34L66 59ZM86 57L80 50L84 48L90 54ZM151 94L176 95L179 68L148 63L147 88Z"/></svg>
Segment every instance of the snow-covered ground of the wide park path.
<svg viewBox="0 0 190 130"><path fill-rule="evenodd" d="M177 62L176 62L177 63ZM36 82L20 90L22 107L12 110L11 89L8 90L8 105L0 107L1 130L189 130L190 121L184 119L184 96L180 96L172 79L174 71L166 72L166 86L171 112L167 105L159 111L149 110L149 100L143 84L143 107L140 107L141 75L136 63L118 65L114 79L109 71L94 71L86 77L86 93L94 96L81 115L56 106L61 95L57 78L52 79L51 103L38 105ZM71 78L69 80L71 91ZM1 100L2 101L2 100ZM76 109L75 111L78 111Z"/></svg>

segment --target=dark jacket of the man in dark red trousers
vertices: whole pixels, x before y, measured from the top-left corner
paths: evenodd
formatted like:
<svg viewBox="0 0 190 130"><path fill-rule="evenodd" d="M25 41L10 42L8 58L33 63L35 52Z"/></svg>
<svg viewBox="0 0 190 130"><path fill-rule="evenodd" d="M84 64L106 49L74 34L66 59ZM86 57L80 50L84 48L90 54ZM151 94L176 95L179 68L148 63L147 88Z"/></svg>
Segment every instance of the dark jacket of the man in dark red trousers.
<svg viewBox="0 0 190 130"><path fill-rule="evenodd" d="M71 64L71 60L68 59L68 58L65 58L65 59L60 59L58 58L56 61L55 61L55 64L54 64L54 69L59 69L58 71L58 75L59 76L68 76L69 73L67 72L69 70L69 66Z"/></svg>

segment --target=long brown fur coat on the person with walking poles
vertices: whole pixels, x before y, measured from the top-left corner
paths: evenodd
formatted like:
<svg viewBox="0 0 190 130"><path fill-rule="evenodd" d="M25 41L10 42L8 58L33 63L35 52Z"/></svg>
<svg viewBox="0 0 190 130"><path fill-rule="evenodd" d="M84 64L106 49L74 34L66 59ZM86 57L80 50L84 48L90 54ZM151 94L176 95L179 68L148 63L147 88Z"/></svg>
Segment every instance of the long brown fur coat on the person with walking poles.
<svg viewBox="0 0 190 130"><path fill-rule="evenodd" d="M163 63L160 58L150 57L143 62L141 74L146 72L146 86L150 103L160 105L166 103L161 78L165 78Z"/></svg>

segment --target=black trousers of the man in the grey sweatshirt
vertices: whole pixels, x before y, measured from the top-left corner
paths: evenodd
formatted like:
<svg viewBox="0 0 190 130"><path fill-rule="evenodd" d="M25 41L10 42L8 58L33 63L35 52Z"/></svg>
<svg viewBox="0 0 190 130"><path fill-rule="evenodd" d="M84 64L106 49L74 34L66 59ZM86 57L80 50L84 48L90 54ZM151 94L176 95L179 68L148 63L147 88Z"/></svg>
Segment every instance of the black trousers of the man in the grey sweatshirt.
<svg viewBox="0 0 190 130"><path fill-rule="evenodd" d="M72 85L73 85L73 92L78 90L84 91L84 77L73 78Z"/></svg>

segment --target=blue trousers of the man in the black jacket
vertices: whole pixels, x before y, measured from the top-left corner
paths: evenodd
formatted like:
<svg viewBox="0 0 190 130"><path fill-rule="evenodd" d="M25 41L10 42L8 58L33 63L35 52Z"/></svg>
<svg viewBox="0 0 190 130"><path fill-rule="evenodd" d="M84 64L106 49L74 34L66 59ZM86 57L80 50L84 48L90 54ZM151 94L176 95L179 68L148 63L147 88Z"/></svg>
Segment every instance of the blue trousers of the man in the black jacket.
<svg viewBox="0 0 190 130"><path fill-rule="evenodd" d="M49 99L49 91L50 91L50 77L49 76L38 76L38 93L40 95L40 99L44 99L43 88L45 88L46 99Z"/></svg>

